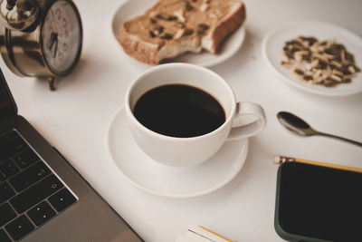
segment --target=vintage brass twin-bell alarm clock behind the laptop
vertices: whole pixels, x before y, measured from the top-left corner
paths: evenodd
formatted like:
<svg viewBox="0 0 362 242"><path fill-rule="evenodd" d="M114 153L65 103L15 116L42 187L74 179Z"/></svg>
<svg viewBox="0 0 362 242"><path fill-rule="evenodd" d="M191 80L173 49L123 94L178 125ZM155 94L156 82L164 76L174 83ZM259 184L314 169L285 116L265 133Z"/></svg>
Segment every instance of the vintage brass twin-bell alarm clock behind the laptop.
<svg viewBox="0 0 362 242"><path fill-rule="evenodd" d="M0 52L20 76L54 78L75 68L81 56L81 16L71 0L1 0Z"/></svg>

